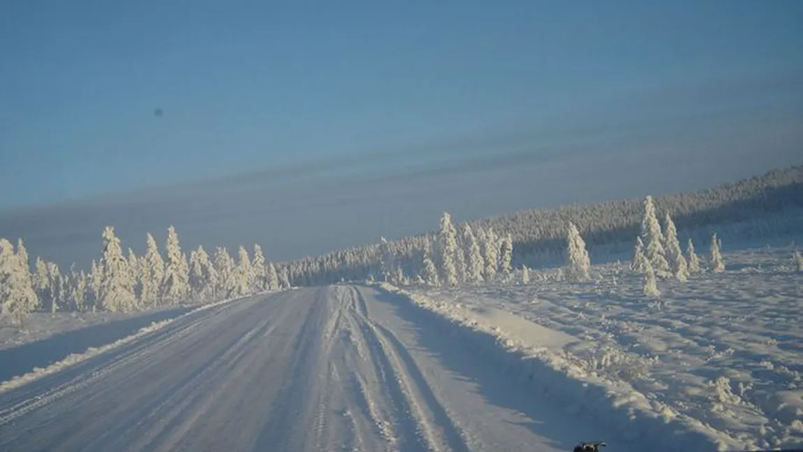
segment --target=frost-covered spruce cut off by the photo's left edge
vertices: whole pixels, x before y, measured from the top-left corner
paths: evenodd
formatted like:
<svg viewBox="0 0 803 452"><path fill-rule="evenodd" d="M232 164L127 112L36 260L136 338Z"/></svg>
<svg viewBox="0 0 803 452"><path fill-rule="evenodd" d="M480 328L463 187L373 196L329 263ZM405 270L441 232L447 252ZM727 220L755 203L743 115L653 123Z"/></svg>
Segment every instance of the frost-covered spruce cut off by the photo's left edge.
<svg viewBox="0 0 803 452"><path fill-rule="evenodd" d="M14 253L14 245L0 238L0 314L16 327L22 327L39 303L31 284L31 270L23 259L27 254Z"/></svg>

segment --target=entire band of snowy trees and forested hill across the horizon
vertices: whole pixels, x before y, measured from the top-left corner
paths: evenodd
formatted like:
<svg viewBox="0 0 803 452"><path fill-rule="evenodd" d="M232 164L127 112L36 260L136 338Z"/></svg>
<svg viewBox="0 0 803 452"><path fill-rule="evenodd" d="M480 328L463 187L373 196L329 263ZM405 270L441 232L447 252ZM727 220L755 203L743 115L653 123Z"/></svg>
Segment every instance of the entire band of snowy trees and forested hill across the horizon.
<svg viewBox="0 0 803 452"><path fill-rule="evenodd" d="M700 214L699 206L710 207L711 203L695 204L693 200L719 200L720 207L727 201L733 209L738 209L744 204L734 200L762 199L768 209L781 210L763 217L739 217L739 222L725 222L716 228L728 231L729 238L744 238L739 231L745 230L747 236L766 236L769 231L782 234L799 228L800 210L794 210L797 216L790 215L789 208L803 204L803 196L789 193L803 194L801 181L803 166L797 166L703 192L663 198L648 196L637 202L637 207L631 201L603 202L531 210L458 225L444 212L434 232L395 241L381 238L377 243L290 263L268 262L259 245L254 245L251 252L240 246L235 257L225 247L216 247L210 255L203 246L198 246L188 256L181 250L173 226L167 230L163 251L153 235L147 234L145 255L137 256L130 248L124 254L114 228L107 226L102 233L102 256L92 261L88 271L72 266L62 273L55 263L40 258L35 259L31 271L31 260L22 239L14 246L6 238L0 238L0 303L3 316L21 324L29 312L37 310L130 312L340 281L382 279L428 286L509 282L514 267L521 269L523 279L528 279L528 265L543 265L545 260L565 263L565 275L581 281L588 278L589 250L600 255L603 250L617 249L605 246L621 246L621 243L633 246L634 235L638 236L631 267L634 271L645 275L645 279L652 275L653 279L675 277L683 281L688 272L699 267L692 238L710 243L711 268L713 271L722 268L721 242L716 234L711 235L715 225L710 221L733 218L732 214ZM772 193L787 193L792 197L778 201L770 196ZM664 212L663 230L656 214L658 208ZM693 211L699 214L696 218L701 223L689 222L689 212ZM687 226L685 257L673 220L675 212L680 212ZM753 214L759 215L760 210L754 210ZM606 220L593 223L594 218ZM751 226L759 224L763 226ZM612 230L618 232L613 234ZM703 230L707 237L695 234L695 230ZM606 234L608 241L600 242L598 239Z"/></svg>

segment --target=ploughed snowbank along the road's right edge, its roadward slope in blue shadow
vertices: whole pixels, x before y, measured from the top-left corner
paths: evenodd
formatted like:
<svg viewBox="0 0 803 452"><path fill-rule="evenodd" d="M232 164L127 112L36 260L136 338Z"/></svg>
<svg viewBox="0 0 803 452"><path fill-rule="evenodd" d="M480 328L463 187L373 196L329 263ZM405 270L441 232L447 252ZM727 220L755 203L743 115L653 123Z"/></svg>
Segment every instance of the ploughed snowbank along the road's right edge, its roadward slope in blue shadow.
<svg viewBox="0 0 803 452"><path fill-rule="evenodd" d="M532 389L539 393L537 397L548 398L556 409L610 431L610 437L602 438L609 444L654 441L654 450L667 451L736 447L731 438L708 432L693 420L678 418L671 413L659 416L650 409L642 394L626 385L609 386L600 381L582 379L584 373L573 360L550 351L548 347L525 345L501 328L487 324L481 317L471 316L459 307L389 284L383 284L382 288L404 295L418 307L442 316L443 328L449 328L451 335L458 336L467 347L495 364L501 372L532 384ZM547 336L555 335L548 332Z"/></svg>

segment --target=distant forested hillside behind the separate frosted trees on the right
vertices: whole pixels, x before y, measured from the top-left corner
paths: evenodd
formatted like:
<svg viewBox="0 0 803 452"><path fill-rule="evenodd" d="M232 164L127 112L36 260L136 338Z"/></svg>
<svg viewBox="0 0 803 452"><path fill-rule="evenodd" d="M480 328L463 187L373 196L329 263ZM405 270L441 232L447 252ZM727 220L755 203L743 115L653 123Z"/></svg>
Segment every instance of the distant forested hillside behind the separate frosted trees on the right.
<svg viewBox="0 0 803 452"><path fill-rule="evenodd" d="M645 193L645 196L649 193ZM573 222L585 239L592 260L630 259L642 220L643 197L556 209L520 210L468 224L513 239L513 265L544 267L565 262L565 226ZM654 198L660 215L671 214L682 242L692 238L707 246L717 233L728 243L803 233L803 165L776 169L742 181L695 192ZM437 218L433 218L433 224ZM462 225L457 225L460 230ZM397 263L411 275L420 272L422 249L434 230L390 242ZM377 273L379 244L337 250L328 255L287 263L294 283L332 283L365 279Z"/></svg>

